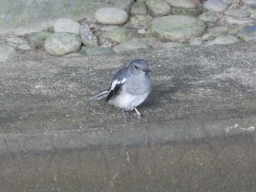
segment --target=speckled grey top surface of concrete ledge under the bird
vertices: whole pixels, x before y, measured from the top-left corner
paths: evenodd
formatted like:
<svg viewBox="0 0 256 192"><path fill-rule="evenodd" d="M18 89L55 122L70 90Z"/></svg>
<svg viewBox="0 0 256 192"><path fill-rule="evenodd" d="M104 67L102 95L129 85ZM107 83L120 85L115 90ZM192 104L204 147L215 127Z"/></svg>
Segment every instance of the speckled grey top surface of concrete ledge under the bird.
<svg viewBox="0 0 256 192"><path fill-rule="evenodd" d="M141 145L255 130L255 44L185 47L0 64L1 153ZM146 59L154 88L139 107L149 123L91 102L113 74Z"/></svg>

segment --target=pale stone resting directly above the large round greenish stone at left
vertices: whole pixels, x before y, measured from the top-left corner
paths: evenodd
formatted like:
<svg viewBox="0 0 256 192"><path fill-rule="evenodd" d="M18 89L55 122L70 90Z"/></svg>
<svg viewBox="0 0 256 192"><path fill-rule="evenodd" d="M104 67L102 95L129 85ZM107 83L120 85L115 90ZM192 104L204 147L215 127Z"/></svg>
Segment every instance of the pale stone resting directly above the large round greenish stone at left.
<svg viewBox="0 0 256 192"><path fill-rule="evenodd" d="M73 34L79 34L80 24L75 20L68 18L61 18L53 25L54 32L68 32Z"/></svg>

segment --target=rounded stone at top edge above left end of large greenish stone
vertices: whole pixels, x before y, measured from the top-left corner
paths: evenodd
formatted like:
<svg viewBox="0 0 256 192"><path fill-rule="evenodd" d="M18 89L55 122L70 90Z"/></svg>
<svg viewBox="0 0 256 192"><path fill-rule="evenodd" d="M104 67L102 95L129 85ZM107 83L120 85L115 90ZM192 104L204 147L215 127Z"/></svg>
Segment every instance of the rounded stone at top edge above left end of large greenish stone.
<svg viewBox="0 0 256 192"><path fill-rule="evenodd" d="M151 11L154 16L168 15L171 12L171 7L164 0L148 0L146 7Z"/></svg>

